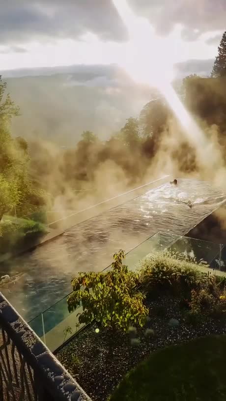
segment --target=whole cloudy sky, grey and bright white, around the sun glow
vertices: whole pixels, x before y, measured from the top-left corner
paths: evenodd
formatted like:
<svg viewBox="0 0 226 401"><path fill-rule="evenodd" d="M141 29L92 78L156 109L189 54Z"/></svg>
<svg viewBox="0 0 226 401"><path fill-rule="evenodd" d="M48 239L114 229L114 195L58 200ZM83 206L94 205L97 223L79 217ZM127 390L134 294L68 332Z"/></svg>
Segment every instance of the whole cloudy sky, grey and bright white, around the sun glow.
<svg viewBox="0 0 226 401"><path fill-rule="evenodd" d="M151 38L142 36L146 53L151 57L161 46L174 64L216 56L226 29L225 1L128 0L128 4L152 29ZM128 31L112 0L0 0L0 38L1 71L120 63L129 51Z"/></svg>

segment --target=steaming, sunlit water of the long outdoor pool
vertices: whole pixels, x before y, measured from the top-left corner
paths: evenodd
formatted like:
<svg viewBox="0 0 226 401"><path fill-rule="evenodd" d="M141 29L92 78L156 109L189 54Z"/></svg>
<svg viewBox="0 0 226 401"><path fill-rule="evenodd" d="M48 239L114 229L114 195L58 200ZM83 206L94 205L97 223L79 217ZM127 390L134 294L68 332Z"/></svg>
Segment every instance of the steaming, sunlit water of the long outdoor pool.
<svg viewBox="0 0 226 401"><path fill-rule="evenodd" d="M157 231L183 235L225 199L209 183L188 179L150 190L8 262L2 274L24 272L26 276L3 292L30 320L70 292L75 272L103 270L114 252L128 252Z"/></svg>

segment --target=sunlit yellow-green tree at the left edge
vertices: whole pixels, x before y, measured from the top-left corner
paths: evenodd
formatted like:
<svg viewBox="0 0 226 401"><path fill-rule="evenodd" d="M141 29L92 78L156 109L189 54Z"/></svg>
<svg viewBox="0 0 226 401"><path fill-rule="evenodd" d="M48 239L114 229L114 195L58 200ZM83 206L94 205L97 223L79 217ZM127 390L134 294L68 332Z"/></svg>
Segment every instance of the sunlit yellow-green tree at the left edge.
<svg viewBox="0 0 226 401"><path fill-rule="evenodd" d="M19 109L0 77L0 221L3 214L17 206L23 199L28 184L28 154L25 143L11 137L11 119Z"/></svg>

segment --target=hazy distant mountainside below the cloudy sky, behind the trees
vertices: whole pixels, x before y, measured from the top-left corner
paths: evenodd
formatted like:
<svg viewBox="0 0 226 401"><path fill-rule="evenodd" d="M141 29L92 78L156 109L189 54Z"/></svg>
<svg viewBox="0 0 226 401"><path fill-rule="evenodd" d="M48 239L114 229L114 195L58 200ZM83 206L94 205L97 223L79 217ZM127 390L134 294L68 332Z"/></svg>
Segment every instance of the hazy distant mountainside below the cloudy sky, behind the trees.
<svg viewBox="0 0 226 401"><path fill-rule="evenodd" d="M176 76L208 75L212 62L176 64ZM150 88L137 85L116 64L18 69L2 71L2 77L21 109L14 135L39 136L61 146L74 146L85 130L107 140L152 99Z"/></svg>

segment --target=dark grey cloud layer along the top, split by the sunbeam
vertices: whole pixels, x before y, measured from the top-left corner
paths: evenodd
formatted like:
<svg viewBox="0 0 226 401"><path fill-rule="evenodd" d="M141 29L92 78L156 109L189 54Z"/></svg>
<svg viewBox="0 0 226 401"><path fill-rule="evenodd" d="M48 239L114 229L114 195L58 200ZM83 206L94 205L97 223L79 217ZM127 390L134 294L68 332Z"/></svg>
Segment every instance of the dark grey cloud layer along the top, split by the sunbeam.
<svg viewBox="0 0 226 401"><path fill-rule="evenodd" d="M226 0L128 0L159 34L182 24L186 40L226 28ZM78 38L87 31L103 40L127 39L112 0L0 0L1 44Z"/></svg>

